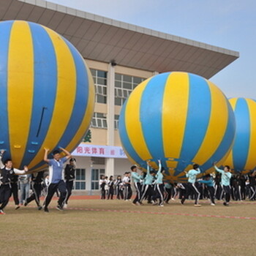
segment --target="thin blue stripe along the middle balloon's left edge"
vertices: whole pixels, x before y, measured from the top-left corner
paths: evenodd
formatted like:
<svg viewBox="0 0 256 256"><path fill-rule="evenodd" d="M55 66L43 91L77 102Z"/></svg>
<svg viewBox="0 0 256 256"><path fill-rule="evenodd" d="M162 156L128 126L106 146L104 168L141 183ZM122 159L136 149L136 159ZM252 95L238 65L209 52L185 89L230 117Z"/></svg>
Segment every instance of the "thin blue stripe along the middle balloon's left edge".
<svg viewBox="0 0 256 256"><path fill-rule="evenodd" d="M128 101L129 99L127 99ZM123 107L121 108L121 113L119 116L119 123L118 123L118 129L119 129L119 135L120 139L122 142L122 145L124 146L125 150L129 154L132 159L135 160L140 166L146 167L145 166L145 161L141 159L138 154L136 153L135 149L132 146L132 143L129 140L128 134L127 134L127 129L125 125L125 111L127 107L127 101L124 103Z"/></svg>

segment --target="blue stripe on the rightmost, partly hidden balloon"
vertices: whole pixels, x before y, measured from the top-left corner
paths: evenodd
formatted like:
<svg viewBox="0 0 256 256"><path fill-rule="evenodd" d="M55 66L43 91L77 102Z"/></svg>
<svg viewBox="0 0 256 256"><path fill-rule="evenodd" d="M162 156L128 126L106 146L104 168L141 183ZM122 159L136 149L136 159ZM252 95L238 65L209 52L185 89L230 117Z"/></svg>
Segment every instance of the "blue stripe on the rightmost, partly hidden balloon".
<svg viewBox="0 0 256 256"><path fill-rule="evenodd" d="M236 117L236 136L233 146L233 167L235 170L244 170L250 142L250 116L246 99L238 98L234 110Z"/></svg>

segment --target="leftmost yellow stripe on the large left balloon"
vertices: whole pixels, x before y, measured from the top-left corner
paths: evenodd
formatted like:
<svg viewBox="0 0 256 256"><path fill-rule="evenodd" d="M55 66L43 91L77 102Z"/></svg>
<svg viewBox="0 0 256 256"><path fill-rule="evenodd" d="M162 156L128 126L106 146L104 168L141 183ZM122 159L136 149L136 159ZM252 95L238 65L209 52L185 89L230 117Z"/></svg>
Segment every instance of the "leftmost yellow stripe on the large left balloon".
<svg viewBox="0 0 256 256"><path fill-rule="evenodd" d="M10 153L14 166L20 166L29 137L34 92L34 53L29 24L15 21L10 34L8 55L8 118ZM26 90L20 85L26 84Z"/></svg>

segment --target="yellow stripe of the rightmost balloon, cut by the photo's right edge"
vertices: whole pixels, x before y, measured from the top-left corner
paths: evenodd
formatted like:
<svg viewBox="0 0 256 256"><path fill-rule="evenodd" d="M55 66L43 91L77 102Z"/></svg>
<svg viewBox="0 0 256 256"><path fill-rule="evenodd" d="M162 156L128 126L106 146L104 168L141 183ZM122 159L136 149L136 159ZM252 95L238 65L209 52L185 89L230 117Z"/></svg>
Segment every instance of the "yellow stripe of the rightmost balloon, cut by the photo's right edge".
<svg viewBox="0 0 256 256"><path fill-rule="evenodd" d="M246 102L249 108L250 141L245 169L252 170L255 167L256 154L256 102L252 99L246 99Z"/></svg>

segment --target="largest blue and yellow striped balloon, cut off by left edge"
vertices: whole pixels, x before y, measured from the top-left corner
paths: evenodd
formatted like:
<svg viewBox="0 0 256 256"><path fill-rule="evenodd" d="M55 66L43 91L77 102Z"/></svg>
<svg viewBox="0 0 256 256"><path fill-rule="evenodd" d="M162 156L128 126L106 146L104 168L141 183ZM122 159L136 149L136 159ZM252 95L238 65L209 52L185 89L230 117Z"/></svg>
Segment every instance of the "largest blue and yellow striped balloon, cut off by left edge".
<svg viewBox="0 0 256 256"><path fill-rule="evenodd" d="M0 23L0 148L42 169L43 148L72 151L94 112L94 81L78 50L36 23Z"/></svg>

